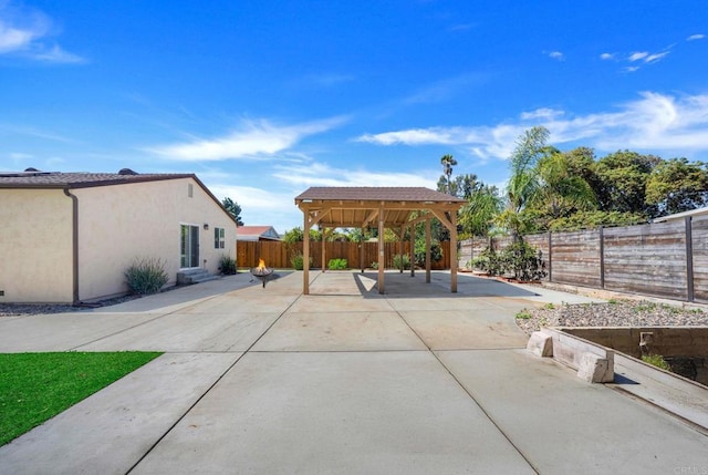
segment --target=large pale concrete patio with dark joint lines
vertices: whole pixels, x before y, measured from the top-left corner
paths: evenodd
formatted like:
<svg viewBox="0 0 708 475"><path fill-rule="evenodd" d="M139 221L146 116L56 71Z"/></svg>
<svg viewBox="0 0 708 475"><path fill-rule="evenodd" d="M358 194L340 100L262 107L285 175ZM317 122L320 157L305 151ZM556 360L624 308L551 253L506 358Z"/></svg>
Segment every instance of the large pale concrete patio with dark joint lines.
<svg viewBox="0 0 708 475"><path fill-rule="evenodd" d="M0 319L0 352L166 353L0 447L0 473L706 473L708 437L532 357L513 317L586 298L449 275L228 277ZM693 471L693 472L691 472ZM702 472L701 472L702 471Z"/></svg>

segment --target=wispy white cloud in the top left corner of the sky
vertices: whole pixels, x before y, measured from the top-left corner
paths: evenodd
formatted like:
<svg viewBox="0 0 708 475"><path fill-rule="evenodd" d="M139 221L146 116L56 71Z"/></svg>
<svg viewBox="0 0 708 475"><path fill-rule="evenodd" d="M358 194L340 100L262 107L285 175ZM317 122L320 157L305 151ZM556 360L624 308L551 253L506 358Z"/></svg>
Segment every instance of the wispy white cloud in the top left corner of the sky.
<svg viewBox="0 0 708 475"><path fill-rule="evenodd" d="M40 11L0 2L0 54L52 63L83 62L83 58L49 41L54 29L52 21Z"/></svg>

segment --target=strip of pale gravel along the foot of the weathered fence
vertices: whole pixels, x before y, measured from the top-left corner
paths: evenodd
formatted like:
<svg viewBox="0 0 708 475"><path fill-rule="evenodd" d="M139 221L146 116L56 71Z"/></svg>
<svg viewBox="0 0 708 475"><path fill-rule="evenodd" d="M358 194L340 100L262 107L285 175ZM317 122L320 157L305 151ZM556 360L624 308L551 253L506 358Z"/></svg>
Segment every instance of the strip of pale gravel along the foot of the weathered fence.
<svg viewBox="0 0 708 475"><path fill-rule="evenodd" d="M541 327L708 327L708 310L647 300L549 304L519 312L517 324L528 334Z"/></svg>

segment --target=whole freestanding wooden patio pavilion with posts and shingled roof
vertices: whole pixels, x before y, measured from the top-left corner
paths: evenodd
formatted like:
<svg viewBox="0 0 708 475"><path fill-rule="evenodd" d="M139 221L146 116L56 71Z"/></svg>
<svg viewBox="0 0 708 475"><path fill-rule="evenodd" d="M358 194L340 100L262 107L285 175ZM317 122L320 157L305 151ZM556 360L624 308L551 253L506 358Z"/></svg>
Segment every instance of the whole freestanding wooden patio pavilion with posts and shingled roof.
<svg viewBox="0 0 708 475"><path fill-rule="evenodd" d="M426 282L430 282L430 220L438 219L450 233L450 291L457 292L457 211L464 199L425 187L311 187L295 197L304 215L303 293L310 293L310 229L317 225L323 239L335 228L378 228L378 292L384 293L384 230L392 229L403 242L407 228L425 221ZM363 234L363 233L362 233ZM410 233L410 275L415 231ZM324 246L322 251L324 252ZM403 249L403 245L400 247ZM322 256L322 262L325 262ZM364 264L360 262L362 269ZM323 267L324 271L324 267Z"/></svg>

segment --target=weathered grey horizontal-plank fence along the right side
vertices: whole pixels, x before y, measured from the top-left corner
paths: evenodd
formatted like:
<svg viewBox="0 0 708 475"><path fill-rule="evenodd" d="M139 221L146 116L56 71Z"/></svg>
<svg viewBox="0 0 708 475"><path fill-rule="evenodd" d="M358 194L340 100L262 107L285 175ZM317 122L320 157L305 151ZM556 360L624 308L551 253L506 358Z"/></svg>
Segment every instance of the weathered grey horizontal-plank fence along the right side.
<svg viewBox="0 0 708 475"><path fill-rule="evenodd" d="M545 280L708 303L708 217L525 236L541 250ZM460 267L489 245L460 242ZM511 240L494 239L496 249Z"/></svg>

